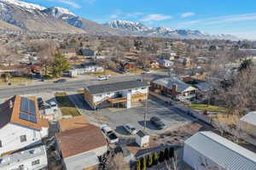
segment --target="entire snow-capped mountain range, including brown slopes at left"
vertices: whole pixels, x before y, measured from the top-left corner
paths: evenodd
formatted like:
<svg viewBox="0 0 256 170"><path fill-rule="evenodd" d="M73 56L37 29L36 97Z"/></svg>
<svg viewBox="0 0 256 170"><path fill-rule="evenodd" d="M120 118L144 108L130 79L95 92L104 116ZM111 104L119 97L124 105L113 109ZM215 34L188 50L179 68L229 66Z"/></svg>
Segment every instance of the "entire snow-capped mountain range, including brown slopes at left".
<svg viewBox="0 0 256 170"><path fill-rule="evenodd" d="M96 35L236 39L230 35L209 35L202 31L175 30L166 27L148 27L139 22L113 20L97 24L70 12L67 8L44 8L19 0L0 0L0 20L6 22L0 29L47 31L59 33L87 33ZM2 24L3 25L3 24Z"/></svg>

